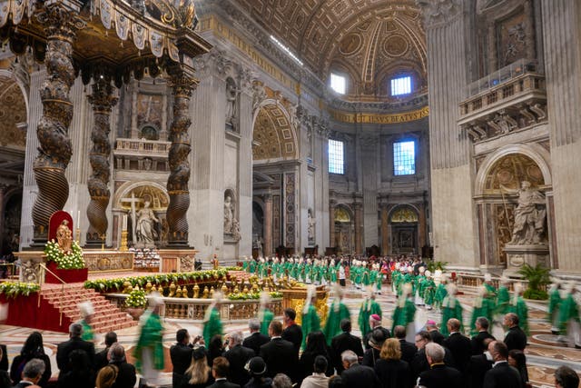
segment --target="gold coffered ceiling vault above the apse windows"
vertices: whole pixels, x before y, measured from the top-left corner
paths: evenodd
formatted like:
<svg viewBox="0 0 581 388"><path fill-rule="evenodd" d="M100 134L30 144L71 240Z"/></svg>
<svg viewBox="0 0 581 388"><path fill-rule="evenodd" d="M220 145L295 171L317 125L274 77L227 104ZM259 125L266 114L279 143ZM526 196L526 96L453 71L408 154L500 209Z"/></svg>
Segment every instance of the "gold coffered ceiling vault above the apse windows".
<svg viewBox="0 0 581 388"><path fill-rule="evenodd" d="M235 1L321 79L331 70L348 73L348 95L386 96L389 77L410 70L414 89L426 87L426 37L415 1Z"/></svg>

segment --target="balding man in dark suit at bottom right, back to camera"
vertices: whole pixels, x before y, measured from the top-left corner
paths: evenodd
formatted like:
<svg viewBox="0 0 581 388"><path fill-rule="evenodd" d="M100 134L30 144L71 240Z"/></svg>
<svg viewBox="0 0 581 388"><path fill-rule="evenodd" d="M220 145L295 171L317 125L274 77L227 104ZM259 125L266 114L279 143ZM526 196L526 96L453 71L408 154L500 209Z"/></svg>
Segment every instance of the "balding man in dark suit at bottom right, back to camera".
<svg viewBox="0 0 581 388"><path fill-rule="evenodd" d="M508 365L508 348L505 343L493 341L488 344L494 366L484 376L483 388L525 388L517 369Z"/></svg>

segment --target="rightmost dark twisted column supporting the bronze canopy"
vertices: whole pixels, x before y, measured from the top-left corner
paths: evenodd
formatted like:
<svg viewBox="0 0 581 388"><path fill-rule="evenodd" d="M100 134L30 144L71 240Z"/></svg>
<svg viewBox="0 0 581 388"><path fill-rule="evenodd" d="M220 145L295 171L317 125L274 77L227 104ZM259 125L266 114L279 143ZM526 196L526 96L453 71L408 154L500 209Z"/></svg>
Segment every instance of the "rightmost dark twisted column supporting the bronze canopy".
<svg viewBox="0 0 581 388"><path fill-rule="evenodd" d="M167 223L170 233L168 245L188 245L188 220L186 214L190 207L190 163L188 155L192 149L188 128L190 120L190 97L198 81L187 75L182 69L172 69L170 72L173 90L173 121L170 130L169 162L170 176L167 180L167 193L170 204L167 207Z"/></svg>

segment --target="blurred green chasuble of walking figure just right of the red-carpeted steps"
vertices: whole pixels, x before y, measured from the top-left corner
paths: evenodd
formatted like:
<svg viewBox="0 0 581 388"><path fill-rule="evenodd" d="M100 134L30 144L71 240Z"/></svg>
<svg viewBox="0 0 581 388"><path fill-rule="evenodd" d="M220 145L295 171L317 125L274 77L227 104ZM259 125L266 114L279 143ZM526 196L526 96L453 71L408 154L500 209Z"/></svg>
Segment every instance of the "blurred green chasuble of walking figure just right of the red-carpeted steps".
<svg viewBox="0 0 581 388"><path fill-rule="evenodd" d="M135 358L135 368L142 371L142 351L145 348L152 349L153 368L161 371L163 369L163 325L162 318L151 310L145 311L140 320L140 334L133 357Z"/></svg>

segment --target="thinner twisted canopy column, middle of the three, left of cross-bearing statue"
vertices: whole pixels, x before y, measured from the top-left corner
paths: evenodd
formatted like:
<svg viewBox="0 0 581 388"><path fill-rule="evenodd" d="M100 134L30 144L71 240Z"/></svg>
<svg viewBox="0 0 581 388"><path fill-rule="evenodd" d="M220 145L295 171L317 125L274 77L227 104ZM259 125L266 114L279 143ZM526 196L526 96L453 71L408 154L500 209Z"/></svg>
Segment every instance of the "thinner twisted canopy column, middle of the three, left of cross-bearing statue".
<svg viewBox="0 0 581 388"><path fill-rule="evenodd" d="M93 149L89 154L93 174L87 182L91 202L87 206L89 229L86 234L86 244L98 247L101 246L107 233L108 223L105 211L111 196L108 187L111 174L109 132L111 131L111 109L117 104L117 97L113 96L111 80L103 76L98 78L93 84L93 93L89 95L89 102L93 104L94 116L93 133L91 134Z"/></svg>

